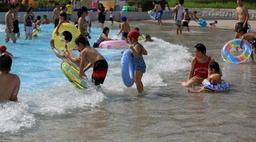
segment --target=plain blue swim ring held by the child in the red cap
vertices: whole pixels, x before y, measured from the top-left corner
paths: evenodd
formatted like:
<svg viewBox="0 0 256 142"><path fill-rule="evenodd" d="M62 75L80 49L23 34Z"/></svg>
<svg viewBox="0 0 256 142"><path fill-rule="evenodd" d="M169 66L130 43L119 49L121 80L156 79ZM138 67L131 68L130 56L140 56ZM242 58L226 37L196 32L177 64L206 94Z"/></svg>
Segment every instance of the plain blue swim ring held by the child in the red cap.
<svg viewBox="0 0 256 142"><path fill-rule="evenodd" d="M121 78L127 87L133 86L135 83L135 64L133 63L133 52L130 49L126 49L121 54Z"/></svg>

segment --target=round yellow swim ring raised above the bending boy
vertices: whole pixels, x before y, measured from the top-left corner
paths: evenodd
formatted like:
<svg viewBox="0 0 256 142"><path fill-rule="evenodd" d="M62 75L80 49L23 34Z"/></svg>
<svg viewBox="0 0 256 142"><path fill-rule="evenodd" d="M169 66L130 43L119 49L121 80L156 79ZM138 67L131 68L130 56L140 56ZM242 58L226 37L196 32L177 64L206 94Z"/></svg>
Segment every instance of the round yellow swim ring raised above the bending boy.
<svg viewBox="0 0 256 142"><path fill-rule="evenodd" d="M54 40L55 48L63 50L64 48L64 42L60 38L60 35L57 35L56 32L57 27L53 30L52 39ZM61 26L59 28L59 33L63 33L63 31L69 31L72 35L72 40L67 43L68 51L72 51L76 44L74 43L74 40L76 40L76 37L80 35L80 31L71 23L61 23Z"/></svg>

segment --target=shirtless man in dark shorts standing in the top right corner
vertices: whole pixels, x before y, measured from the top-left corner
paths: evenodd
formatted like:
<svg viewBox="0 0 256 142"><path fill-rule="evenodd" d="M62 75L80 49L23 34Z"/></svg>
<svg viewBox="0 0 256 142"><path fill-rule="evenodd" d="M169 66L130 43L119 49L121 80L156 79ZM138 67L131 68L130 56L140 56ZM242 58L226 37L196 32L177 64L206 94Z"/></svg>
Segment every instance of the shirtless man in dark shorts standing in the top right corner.
<svg viewBox="0 0 256 142"><path fill-rule="evenodd" d="M234 29L234 31L236 31L235 38L239 38L239 34L237 33L237 30L242 27L246 28L247 30L249 12L247 7L243 5L244 0L237 0L236 2L238 4L238 7L236 8L238 22L236 23L236 28Z"/></svg>

